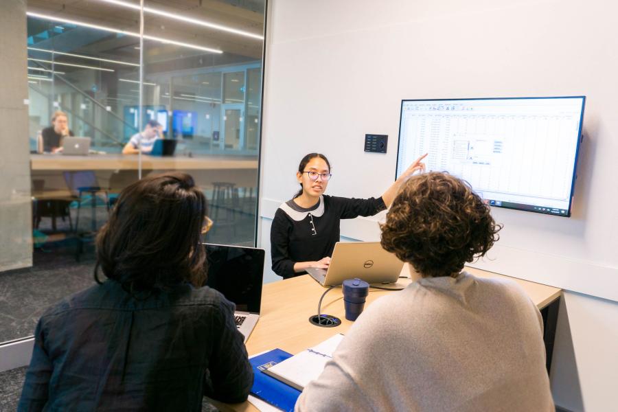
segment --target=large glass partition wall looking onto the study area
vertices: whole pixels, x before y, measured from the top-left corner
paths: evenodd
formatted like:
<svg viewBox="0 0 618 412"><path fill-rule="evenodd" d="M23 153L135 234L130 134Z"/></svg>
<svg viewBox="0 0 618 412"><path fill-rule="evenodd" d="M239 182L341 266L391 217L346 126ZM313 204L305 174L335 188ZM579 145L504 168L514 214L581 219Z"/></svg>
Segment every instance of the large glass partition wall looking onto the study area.
<svg viewBox="0 0 618 412"><path fill-rule="evenodd" d="M0 273L21 285L0 356L93 284L96 233L137 179L191 174L214 220L205 240L255 244L265 1L143 3L27 2L34 266ZM161 150L123 154L149 122Z"/></svg>

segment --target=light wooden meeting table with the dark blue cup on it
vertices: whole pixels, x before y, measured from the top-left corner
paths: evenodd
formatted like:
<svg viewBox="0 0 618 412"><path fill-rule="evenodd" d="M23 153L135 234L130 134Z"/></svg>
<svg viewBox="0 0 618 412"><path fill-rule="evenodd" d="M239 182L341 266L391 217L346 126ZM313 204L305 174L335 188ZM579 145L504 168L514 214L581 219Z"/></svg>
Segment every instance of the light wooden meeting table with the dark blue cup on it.
<svg viewBox="0 0 618 412"><path fill-rule="evenodd" d="M477 277L511 279L524 288L539 310L547 312L547 309L553 307L556 308L557 315L558 299L562 293L562 290L559 288L527 282L525 280L481 271L475 268L466 267L466 271ZM398 286L404 287L409 283L409 279L400 279L396 286L385 286L393 288ZM308 347L325 341L325 339L330 338L330 336L334 334L345 334L345 332L350 329L353 322L345 319L341 288L330 290L330 292L325 295L321 306L322 313L339 317L342 321L341 325L336 328L320 328L309 323L309 317L313 314L317 314L317 304L320 296L325 290L326 288L317 284L317 282L308 275L264 285L262 289L262 313L260 314L260 320L247 341L247 352L249 352L249 356L271 350L275 347L290 352L291 354L297 354L298 352L306 350ZM371 304L372 301L388 293L392 292L369 289L366 305ZM546 317L547 314L545 314L544 319ZM549 321L553 321L553 328L552 325L546 325L545 327L546 336L548 333L551 334L551 336L549 336L552 340L551 345L553 345L553 332L550 330L555 330L555 320L556 319L549 319ZM551 352L548 350L548 358L550 356ZM221 404L220 402L213 403L222 411L258 410L249 402L233 405Z"/></svg>

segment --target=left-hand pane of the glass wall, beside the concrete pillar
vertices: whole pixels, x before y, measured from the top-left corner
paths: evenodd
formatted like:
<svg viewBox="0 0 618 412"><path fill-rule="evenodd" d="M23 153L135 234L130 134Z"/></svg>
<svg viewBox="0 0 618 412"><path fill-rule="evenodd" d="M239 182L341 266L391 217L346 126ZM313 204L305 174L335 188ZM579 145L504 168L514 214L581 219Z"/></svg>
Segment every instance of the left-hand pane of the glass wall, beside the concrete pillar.
<svg viewBox="0 0 618 412"><path fill-rule="evenodd" d="M49 10L49 1L27 3L41 12L27 16L23 46L34 244L34 276L27 288L36 299L6 302L15 321L5 328L0 320L7 333L0 341L32 334L33 321L49 304L93 283L95 233L108 220L119 191L137 179L137 162L122 163L119 153L137 133L124 109L137 108L139 84L122 79L139 78L139 38L117 30L139 31L139 13L79 2L46 15L41 10ZM104 30L89 24L100 21L115 26ZM52 122L58 111L62 122ZM66 129L56 127L60 123ZM21 293L15 296L29 296ZM19 317L23 312L27 319Z"/></svg>

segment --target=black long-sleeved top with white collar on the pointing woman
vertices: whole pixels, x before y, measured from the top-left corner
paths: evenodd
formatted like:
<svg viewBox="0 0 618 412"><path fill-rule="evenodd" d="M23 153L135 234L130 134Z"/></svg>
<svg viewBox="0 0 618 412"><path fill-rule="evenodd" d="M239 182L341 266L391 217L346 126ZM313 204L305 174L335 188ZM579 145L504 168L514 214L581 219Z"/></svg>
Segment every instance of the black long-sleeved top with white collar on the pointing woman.
<svg viewBox="0 0 618 412"><path fill-rule="evenodd" d="M284 279L294 273L296 262L313 262L331 256L339 242L340 220L373 216L386 209L382 198L343 198L322 195L309 209L294 201L282 203L271 226L273 271Z"/></svg>

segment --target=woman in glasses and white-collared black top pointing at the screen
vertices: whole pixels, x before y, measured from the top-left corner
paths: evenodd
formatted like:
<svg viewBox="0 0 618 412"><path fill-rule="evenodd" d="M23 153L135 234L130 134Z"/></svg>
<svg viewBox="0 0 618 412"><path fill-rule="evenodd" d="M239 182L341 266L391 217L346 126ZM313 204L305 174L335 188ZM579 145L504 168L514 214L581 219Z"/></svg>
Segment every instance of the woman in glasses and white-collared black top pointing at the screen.
<svg viewBox="0 0 618 412"><path fill-rule="evenodd" d="M292 200L282 203L271 226L273 271L288 279L307 268L328 268L330 256L339 242L341 219L373 216L391 205L399 187L417 171L425 169L423 155L379 198L343 198L325 195L330 181L330 162L320 153L301 160L296 179L301 189Z"/></svg>

